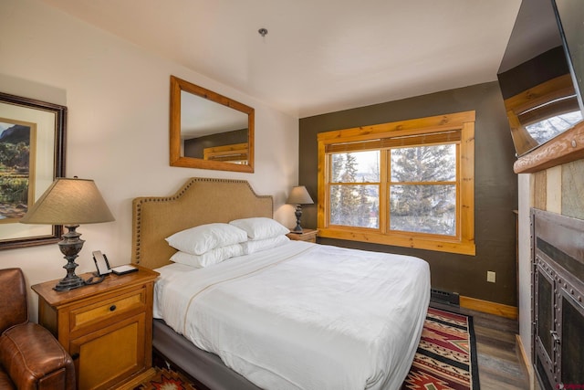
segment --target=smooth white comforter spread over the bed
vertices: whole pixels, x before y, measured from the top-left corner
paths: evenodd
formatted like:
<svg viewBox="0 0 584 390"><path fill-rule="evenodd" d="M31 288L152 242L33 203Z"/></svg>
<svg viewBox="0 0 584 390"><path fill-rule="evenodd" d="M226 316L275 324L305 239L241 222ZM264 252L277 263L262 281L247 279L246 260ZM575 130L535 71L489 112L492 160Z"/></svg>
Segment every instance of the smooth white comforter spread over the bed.
<svg viewBox="0 0 584 390"><path fill-rule="evenodd" d="M274 390L398 389L430 300L420 258L303 241L157 270L155 317Z"/></svg>

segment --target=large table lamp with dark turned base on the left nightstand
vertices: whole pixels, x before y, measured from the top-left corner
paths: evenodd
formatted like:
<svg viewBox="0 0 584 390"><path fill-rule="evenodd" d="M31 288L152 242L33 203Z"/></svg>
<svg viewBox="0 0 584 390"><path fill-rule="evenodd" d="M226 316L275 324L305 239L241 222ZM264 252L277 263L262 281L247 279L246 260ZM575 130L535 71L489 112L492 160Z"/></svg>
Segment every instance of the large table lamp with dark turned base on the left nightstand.
<svg viewBox="0 0 584 390"><path fill-rule="evenodd" d="M89 284L89 281L75 274L78 264L75 258L83 248L84 240L76 229L79 224L97 224L114 221L99 189L93 180L57 178L48 187L25 216L20 219L23 224L63 225L68 232L59 241L58 247L67 259L63 266L67 276L59 280L54 287L57 291L67 291Z"/></svg>

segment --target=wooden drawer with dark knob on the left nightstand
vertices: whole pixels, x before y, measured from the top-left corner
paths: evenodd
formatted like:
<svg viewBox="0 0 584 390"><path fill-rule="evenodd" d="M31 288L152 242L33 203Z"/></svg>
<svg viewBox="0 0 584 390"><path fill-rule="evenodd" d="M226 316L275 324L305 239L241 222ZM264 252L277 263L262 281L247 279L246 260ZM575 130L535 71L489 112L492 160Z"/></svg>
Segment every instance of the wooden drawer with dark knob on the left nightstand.
<svg viewBox="0 0 584 390"><path fill-rule="evenodd" d="M145 288L131 290L126 294L112 297L109 300L99 300L96 304L70 311L70 332L75 332L93 323L103 323L103 321L119 317L129 311L145 310L145 305Z"/></svg>

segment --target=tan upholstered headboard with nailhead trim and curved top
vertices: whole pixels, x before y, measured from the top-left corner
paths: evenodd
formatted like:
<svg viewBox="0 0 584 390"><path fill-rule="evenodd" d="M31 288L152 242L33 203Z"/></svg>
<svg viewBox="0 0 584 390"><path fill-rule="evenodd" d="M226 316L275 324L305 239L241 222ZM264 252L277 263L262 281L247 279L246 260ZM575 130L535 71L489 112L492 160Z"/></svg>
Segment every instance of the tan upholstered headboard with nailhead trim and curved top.
<svg viewBox="0 0 584 390"><path fill-rule="evenodd" d="M164 238L189 227L250 216L273 216L270 195L256 195L245 180L193 177L176 194L132 202L132 263L149 269L169 264Z"/></svg>

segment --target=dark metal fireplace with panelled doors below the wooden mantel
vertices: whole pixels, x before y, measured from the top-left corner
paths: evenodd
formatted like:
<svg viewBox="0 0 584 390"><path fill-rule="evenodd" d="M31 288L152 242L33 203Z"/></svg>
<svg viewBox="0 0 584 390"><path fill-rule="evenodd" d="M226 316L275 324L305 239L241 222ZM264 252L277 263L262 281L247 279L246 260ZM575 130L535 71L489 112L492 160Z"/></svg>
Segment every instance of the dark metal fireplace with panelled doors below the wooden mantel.
<svg viewBox="0 0 584 390"><path fill-rule="evenodd" d="M532 209L532 353L543 389L584 388L584 220Z"/></svg>

